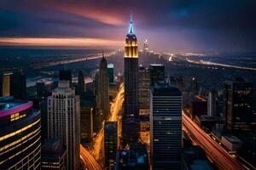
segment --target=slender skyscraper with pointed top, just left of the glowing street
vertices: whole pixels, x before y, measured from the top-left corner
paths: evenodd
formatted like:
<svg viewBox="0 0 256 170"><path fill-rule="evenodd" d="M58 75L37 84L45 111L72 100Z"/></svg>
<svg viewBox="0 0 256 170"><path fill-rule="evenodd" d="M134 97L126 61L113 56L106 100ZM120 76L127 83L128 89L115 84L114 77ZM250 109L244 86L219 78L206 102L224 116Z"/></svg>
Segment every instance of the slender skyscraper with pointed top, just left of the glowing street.
<svg viewBox="0 0 256 170"><path fill-rule="evenodd" d="M107 59L102 54L100 69L97 73L98 80L96 81L97 91L97 106L102 110L103 119L107 119L110 112L109 104L109 81L108 81L108 66Z"/></svg>

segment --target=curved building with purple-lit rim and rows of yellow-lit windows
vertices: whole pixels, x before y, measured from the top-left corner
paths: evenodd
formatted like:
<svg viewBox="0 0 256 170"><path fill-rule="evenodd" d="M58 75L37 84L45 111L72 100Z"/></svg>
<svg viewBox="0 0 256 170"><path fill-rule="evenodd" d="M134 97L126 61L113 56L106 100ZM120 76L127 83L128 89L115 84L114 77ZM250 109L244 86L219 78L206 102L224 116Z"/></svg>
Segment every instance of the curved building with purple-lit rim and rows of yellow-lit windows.
<svg viewBox="0 0 256 170"><path fill-rule="evenodd" d="M31 101L0 98L0 169L40 169L41 116Z"/></svg>

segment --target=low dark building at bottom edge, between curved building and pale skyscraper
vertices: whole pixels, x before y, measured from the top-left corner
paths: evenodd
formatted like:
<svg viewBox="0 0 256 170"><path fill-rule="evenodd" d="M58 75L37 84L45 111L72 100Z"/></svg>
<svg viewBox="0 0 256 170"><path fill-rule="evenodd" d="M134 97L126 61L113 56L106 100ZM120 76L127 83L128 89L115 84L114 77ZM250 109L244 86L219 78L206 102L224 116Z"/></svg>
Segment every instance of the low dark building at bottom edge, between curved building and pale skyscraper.
<svg viewBox="0 0 256 170"><path fill-rule="evenodd" d="M47 139L42 145L42 170L67 169L67 148L58 139Z"/></svg>

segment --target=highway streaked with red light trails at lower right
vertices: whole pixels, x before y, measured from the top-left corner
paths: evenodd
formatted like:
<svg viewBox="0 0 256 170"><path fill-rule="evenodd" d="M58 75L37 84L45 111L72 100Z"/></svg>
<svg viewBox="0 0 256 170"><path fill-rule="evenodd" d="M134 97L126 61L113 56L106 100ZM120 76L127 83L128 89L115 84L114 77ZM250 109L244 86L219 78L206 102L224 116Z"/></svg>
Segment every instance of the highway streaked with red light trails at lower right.
<svg viewBox="0 0 256 170"><path fill-rule="evenodd" d="M219 144L214 142L210 136L201 130L189 116L183 113L183 126L189 130L195 138L199 141L201 147L206 151L207 156L214 162L218 169L224 170L243 170L246 169L243 165L232 157Z"/></svg>

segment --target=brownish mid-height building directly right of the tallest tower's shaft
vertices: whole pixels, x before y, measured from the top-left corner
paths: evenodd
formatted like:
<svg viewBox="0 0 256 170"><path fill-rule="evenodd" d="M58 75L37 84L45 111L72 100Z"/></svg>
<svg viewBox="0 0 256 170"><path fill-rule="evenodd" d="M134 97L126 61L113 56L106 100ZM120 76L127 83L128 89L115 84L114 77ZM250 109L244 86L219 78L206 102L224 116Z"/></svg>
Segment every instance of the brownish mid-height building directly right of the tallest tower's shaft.
<svg viewBox="0 0 256 170"><path fill-rule="evenodd" d="M149 88L150 88L150 75L149 70L140 65L139 67L139 112L140 115L149 114Z"/></svg>

